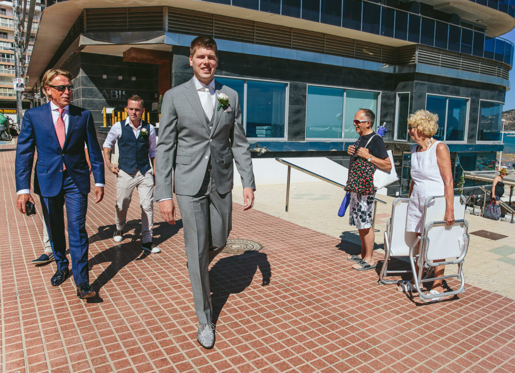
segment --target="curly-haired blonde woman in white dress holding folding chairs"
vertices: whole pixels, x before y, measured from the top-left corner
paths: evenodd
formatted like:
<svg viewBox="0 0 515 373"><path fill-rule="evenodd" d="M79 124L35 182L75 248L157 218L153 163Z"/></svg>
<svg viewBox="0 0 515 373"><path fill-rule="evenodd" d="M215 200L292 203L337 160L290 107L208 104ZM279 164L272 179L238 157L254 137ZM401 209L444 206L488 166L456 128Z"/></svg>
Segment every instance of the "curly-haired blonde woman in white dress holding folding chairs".
<svg viewBox="0 0 515 373"><path fill-rule="evenodd" d="M445 196L445 214L443 220L447 225L454 224L454 190L449 148L444 143L433 139L438 130L438 115L427 110L417 110L408 118L411 140L417 143L411 149L411 184L406 221L406 231L420 235L422 214L427 197ZM418 270L418 268L417 268ZM444 266L435 267L435 278L443 276ZM416 291L414 280L400 284L399 291ZM429 294L443 293L442 280L435 280ZM436 297L429 301L437 301Z"/></svg>

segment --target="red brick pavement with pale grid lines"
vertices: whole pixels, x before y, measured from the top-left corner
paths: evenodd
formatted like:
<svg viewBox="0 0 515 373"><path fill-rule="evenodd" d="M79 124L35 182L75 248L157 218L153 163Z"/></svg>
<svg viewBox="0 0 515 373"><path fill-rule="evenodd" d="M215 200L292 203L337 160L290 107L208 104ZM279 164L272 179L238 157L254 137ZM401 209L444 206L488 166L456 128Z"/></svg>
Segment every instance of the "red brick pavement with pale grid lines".
<svg viewBox="0 0 515 373"><path fill-rule="evenodd" d="M422 304L377 285L373 270L349 270L339 248L352 244L238 204L231 237L264 249L220 255L212 266L217 340L204 350L180 224L156 219L160 254L142 258L134 230L115 245L111 175L87 217L99 297L80 300L72 281L50 285L54 263L30 264L42 249L41 218L15 213L13 163L13 145L0 145L4 372L515 371L513 300L467 286L456 299ZM136 230L138 202L128 215Z"/></svg>

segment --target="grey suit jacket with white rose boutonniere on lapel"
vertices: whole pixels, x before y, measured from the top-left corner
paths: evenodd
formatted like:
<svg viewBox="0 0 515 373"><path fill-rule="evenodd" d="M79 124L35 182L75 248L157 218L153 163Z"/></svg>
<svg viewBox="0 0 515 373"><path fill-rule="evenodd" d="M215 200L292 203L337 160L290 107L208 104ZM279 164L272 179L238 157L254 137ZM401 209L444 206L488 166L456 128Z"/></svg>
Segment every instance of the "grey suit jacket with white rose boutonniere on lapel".
<svg viewBox="0 0 515 373"><path fill-rule="evenodd" d="M217 110L217 101L211 122L202 109L193 78L165 93L156 146L157 201L172 197L174 189L178 194L197 194L210 156L219 193L233 188L233 159L243 187L255 189L238 94L216 79L215 90L216 96L220 92L229 96L230 109Z"/></svg>

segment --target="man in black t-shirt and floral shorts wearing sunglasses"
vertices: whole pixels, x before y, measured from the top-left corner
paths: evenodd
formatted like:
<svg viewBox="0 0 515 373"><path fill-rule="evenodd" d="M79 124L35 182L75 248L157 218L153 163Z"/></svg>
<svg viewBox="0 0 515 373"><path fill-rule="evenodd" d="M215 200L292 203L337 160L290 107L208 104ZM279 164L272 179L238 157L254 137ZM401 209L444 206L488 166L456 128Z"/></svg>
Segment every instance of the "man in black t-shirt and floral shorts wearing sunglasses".
<svg viewBox="0 0 515 373"><path fill-rule="evenodd" d="M351 192L349 204L349 225L355 225L361 239L361 255L352 255L348 260L355 261L352 268L365 270L375 268L372 259L374 249L373 211L374 185L373 174L377 167L389 172L391 163L380 135L372 130L375 114L369 109L359 109L354 115L354 127L359 139L347 149L351 156L347 191Z"/></svg>

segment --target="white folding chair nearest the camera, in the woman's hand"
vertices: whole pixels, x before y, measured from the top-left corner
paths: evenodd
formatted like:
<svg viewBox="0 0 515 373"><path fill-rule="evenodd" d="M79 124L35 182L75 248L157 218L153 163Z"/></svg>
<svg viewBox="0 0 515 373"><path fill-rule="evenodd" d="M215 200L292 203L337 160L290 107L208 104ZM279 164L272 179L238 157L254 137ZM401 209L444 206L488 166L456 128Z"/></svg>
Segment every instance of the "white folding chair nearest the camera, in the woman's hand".
<svg viewBox="0 0 515 373"><path fill-rule="evenodd" d="M421 282L434 281L435 278L422 278L424 268L432 268L438 265L457 264L456 274L445 275L440 278L456 277L460 280L457 290L445 292L445 296L455 295L465 291L465 278L462 266L469 247L469 224L465 220L465 197L454 196L454 224L447 226L442 221L445 214L445 197L428 197L425 201L422 232L420 235L420 250L418 255L416 245L409 249L409 261L415 279L415 286L420 298L431 299L441 297L441 294L424 294L419 287ZM443 260L443 262L435 262ZM415 269L415 261L418 261L419 270Z"/></svg>

